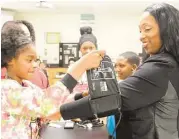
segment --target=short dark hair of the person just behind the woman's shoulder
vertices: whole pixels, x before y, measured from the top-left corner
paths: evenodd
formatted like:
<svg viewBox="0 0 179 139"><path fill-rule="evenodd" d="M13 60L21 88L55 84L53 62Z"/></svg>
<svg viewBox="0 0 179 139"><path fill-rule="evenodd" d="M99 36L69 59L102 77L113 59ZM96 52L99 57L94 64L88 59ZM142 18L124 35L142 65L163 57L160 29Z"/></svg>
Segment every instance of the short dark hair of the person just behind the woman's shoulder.
<svg viewBox="0 0 179 139"><path fill-rule="evenodd" d="M140 64L140 58L139 56L134 53L134 52L124 52L122 54L120 54L119 56L122 56L124 57L125 59L127 59L127 61L130 63L130 64L136 64L137 66L139 66Z"/></svg>

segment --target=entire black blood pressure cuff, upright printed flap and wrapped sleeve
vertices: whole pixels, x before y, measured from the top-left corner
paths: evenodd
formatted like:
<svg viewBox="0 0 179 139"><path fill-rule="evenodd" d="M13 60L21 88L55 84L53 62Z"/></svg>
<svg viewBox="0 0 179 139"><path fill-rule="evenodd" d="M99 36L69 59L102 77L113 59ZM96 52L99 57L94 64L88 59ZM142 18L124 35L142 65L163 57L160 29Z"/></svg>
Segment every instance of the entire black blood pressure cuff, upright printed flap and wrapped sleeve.
<svg viewBox="0 0 179 139"><path fill-rule="evenodd" d="M105 117L119 113L121 97L114 67L105 56L98 69L87 71L89 96L64 104L60 108L63 119Z"/></svg>

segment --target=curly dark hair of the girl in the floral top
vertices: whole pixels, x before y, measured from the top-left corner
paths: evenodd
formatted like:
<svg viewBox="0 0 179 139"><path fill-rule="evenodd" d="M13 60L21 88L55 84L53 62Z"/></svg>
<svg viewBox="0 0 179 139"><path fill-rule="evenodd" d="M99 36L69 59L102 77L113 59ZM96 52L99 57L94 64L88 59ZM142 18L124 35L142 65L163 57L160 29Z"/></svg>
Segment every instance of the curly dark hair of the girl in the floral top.
<svg viewBox="0 0 179 139"><path fill-rule="evenodd" d="M32 40L17 24L6 25L1 32L1 67L7 67L7 63L18 56L20 50Z"/></svg>

